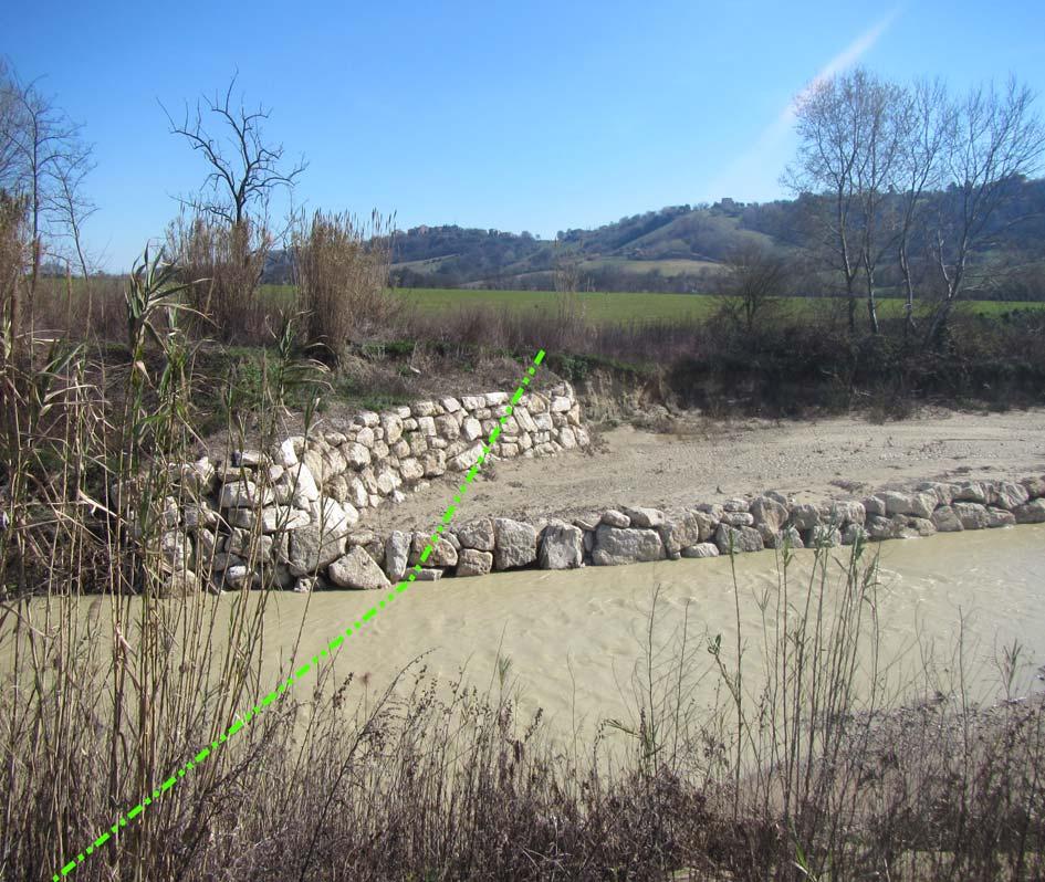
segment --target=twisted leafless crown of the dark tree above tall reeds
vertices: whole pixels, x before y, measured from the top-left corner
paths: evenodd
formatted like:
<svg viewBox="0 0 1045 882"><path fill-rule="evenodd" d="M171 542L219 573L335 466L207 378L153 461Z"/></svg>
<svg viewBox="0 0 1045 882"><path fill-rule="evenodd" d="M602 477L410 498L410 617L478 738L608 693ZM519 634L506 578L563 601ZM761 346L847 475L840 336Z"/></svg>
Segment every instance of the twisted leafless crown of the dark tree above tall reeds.
<svg viewBox="0 0 1045 882"><path fill-rule="evenodd" d="M223 95L216 93L213 99L198 101L195 114L186 106L181 125L176 125L164 107L171 134L182 136L210 169L199 196L182 201L231 227L247 220L252 204L267 207L274 190L293 188L306 168L304 159L285 166L283 145L265 140L270 109L259 105L249 111L242 96L233 103L236 80L233 76ZM205 120L212 122L213 127Z"/></svg>

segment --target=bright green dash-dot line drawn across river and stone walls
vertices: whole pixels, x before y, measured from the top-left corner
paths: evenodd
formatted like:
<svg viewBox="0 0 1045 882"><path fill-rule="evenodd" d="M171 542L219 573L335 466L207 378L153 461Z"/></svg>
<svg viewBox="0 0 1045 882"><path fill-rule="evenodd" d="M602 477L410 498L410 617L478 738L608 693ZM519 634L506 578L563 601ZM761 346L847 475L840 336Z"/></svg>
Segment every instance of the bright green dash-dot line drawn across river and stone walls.
<svg viewBox="0 0 1045 882"><path fill-rule="evenodd" d="M489 439L482 445L482 453L480 453L478 462L474 465L472 465L471 469L468 470L468 473L464 475L464 483L461 484L460 489L458 490L458 494L453 497L453 504L447 507L447 511L442 516L442 523L436 528L436 532L432 535L431 544L429 544L425 548L425 550L421 553L421 557L420 557L421 563L425 563L428 559L429 555L435 550L432 546L439 542L439 537L442 534L446 525L448 525L452 521L453 515L457 511L456 506L461 503L461 497L468 492L469 485L472 483L472 481L476 479L476 475L479 473L480 464L483 462L487 454L490 453L491 447L497 442L498 438L500 437L501 428L505 426L508 417L511 416L514 409L514 405L519 403L519 401L522 399L523 395L525 393L525 388L530 385L530 379L536 375L536 366L539 366L544 360L544 355L545 355L544 349L541 349L534 356L533 365L531 365L530 368L526 370L527 376L524 376L522 378L522 382L515 389L515 392L512 396L511 403L505 407L504 416L500 418L500 422L497 426L494 426L494 428L491 430ZM420 564L415 565L414 573L410 573L406 579L400 580L396 585L394 592L389 591L388 598L387 598L388 601L391 602L395 599L395 594L401 594L403 591L405 591L409 587L410 582L412 582L417 578L420 571L421 571L421 565ZM377 615L378 609L384 609L384 607L385 607L384 600L379 601L378 607L370 607L370 609L368 609L366 612L363 613L363 621L368 621L369 619L374 618L374 616ZM337 637L335 637L333 640L330 641L330 643L327 644L327 649L331 652L334 652L334 650L341 647L341 644L344 642L344 639L346 637L352 637L353 627L355 628L355 630L358 631L363 627L363 622L357 621L355 626L349 626L348 628L346 628L343 636L338 634ZM321 650L320 655L325 658L326 653L327 653L327 650L324 649L324 650ZM268 707L280 695L282 695L286 690L289 690L294 684L295 678L301 679L309 672L312 665L318 666L318 663L320 663L320 659L317 657L313 657L311 663L306 662L304 665L302 665L290 678L288 678L285 683L282 683L278 689L272 690L272 692L265 695L257 705L251 707L250 711L248 711L248 713L242 718L234 721L232 725L229 726L228 732L220 735L217 741L211 742L209 747L202 747L200 752L195 757L192 757L191 760L188 760L180 769L178 769L176 774L167 778L167 780L165 780L159 786L159 788L153 792L151 798L143 799L142 802L139 802L137 806L130 809L130 811L128 811L125 816L117 819L116 823L114 823L109 828L111 832L118 833L121 827L126 827L127 822L130 820L134 820L134 818L140 815L145 810L145 807L148 806L154 799L158 799L161 794L166 792L171 787L174 787L179 778L184 778L187 771L191 771L196 767L197 764L206 760L207 757L210 756L211 750L218 749L220 745L224 744L232 735L234 735L237 732L243 728L243 726L247 725L247 723L249 723L254 716L260 714L263 708ZM98 838L95 839L94 842L87 847L86 854L91 855L96 849L104 846L108 840L109 840L109 833L102 831ZM76 869L77 862L83 863L84 860L85 860L84 853L81 852L77 855L76 860L70 861L61 869L60 871L61 878L64 878L69 875L71 872L73 872L73 870ZM60 880L59 873L55 873L52 880L53 882L59 882Z"/></svg>

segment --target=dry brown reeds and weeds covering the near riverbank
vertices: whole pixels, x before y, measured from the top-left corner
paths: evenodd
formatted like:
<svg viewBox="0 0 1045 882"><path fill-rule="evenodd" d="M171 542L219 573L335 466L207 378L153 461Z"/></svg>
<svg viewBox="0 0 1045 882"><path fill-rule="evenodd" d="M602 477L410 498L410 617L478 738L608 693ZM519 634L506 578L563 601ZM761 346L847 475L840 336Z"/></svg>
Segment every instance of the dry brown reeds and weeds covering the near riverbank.
<svg viewBox="0 0 1045 882"><path fill-rule="evenodd" d="M510 659L485 689L424 655L390 684L332 659L76 876L1038 878L1045 706L1021 648L985 695L960 645L911 676L880 654L870 550L803 554L812 575L784 549L764 596L734 585L757 647L654 592L628 714L594 741L523 714ZM4 608L4 878L49 878L271 686L264 592L85 602Z"/></svg>

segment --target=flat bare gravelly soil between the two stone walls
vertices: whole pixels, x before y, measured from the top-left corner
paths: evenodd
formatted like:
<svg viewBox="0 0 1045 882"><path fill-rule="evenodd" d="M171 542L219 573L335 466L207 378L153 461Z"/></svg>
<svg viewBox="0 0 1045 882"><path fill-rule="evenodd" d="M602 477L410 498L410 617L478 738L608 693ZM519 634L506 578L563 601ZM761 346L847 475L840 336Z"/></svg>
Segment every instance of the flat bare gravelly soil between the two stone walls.
<svg viewBox="0 0 1045 882"><path fill-rule="evenodd" d="M823 501L917 481L1013 480L1045 472L1041 408L985 414L933 410L882 424L836 417L677 426L670 434L616 428L602 434L591 454L488 463L462 506L462 519L579 514L621 503L672 507L764 490L800 502ZM366 521L424 528L446 507L451 485L443 484L433 482Z"/></svg>

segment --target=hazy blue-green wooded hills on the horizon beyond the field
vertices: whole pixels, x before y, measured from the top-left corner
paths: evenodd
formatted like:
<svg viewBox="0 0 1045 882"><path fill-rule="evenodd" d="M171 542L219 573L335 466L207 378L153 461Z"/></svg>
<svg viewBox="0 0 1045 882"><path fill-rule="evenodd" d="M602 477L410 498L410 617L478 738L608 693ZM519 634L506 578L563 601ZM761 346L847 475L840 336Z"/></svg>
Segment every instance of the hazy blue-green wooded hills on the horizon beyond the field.
<svg viewBox="0 0 1045 882"><path fill-rule="evenodd" d="M1016 179L1012 198L994 219L990 245L974 260L1005 270L997 284L980 297L1045 300L1045 180ZM722 261L748 243L756 243L803 262L808 218L817 198L743 203L722 199L714 204L671 206L621 218L594 230L564 230L555 240L530 233L415 227L397 231L393 276L403 287L482 287L552 290L555 267L571 262L579 286L594 291L709 290ZM289 279L285 255L276 254L267 277ZM880 281L898 283L889 260ZM808 281L823 287L823 281Z"/></svg>

